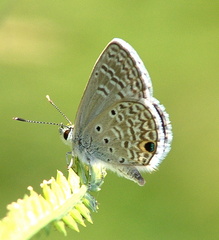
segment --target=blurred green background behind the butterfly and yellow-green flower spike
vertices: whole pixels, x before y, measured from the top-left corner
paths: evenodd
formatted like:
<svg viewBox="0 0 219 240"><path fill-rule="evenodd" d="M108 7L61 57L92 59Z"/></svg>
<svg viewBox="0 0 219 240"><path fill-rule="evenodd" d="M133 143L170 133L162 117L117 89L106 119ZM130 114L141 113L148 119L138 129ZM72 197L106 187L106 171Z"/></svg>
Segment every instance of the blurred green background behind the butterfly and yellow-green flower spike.
<svg viewBox="0 0 219 240"><path fill-rule="evenodd" d="M40 239L218 239L218 1L5 1L0 3L0 217L27 186L66 173L49 94L74 120L91 69L114 37L144 61L174 140L159 171L137 184L109 173L94 224Z"/></svg>

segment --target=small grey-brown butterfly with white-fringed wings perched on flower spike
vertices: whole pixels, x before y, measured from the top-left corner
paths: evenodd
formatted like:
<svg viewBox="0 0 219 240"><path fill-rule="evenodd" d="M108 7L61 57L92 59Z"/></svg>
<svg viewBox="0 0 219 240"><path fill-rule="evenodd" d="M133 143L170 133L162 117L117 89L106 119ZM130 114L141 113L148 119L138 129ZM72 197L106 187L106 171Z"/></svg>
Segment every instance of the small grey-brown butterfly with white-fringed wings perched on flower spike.
<svg viewBox="0 0 219 240"><path fill-rule="evenodd" d="M155 170L172 141L169 116L152 93L136 51L113 39L94 66L75 125L60 128L73 156L144 185L140 171Z"/></svg>

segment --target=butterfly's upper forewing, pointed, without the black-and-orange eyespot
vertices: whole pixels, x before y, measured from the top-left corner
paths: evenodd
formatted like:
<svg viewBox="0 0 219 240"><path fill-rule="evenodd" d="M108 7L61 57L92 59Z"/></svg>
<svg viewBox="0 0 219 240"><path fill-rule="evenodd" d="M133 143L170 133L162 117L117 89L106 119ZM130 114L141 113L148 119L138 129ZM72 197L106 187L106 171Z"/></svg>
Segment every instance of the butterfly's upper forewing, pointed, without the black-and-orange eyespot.
<svg viewBox="0 0 219 240"><path fill-rule="evenodd" d="M122 39L113 39L98 58L84 91L75 120L84 128L112 103L152 96L149 74L136 51Z"/></svg>

